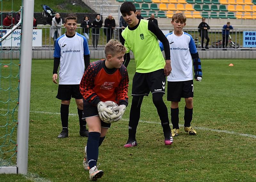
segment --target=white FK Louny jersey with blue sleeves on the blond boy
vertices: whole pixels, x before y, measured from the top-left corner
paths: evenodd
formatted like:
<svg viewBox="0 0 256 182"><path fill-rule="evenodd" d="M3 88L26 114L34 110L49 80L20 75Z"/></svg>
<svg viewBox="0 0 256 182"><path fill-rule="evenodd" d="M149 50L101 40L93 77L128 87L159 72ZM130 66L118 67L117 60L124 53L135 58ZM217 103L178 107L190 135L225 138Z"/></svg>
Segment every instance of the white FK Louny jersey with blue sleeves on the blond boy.
<svg viewBox="0 0 256 182"><path fill-rule="evenodd" d="M167 81L193 80L191 54L195 54L197 50L192 36L183 31L181 36L176 36L173 32L165 36L170 44L172 66L172 72L167 77ZM160 48L164 50L162 42L160 42Z"/></svg>

